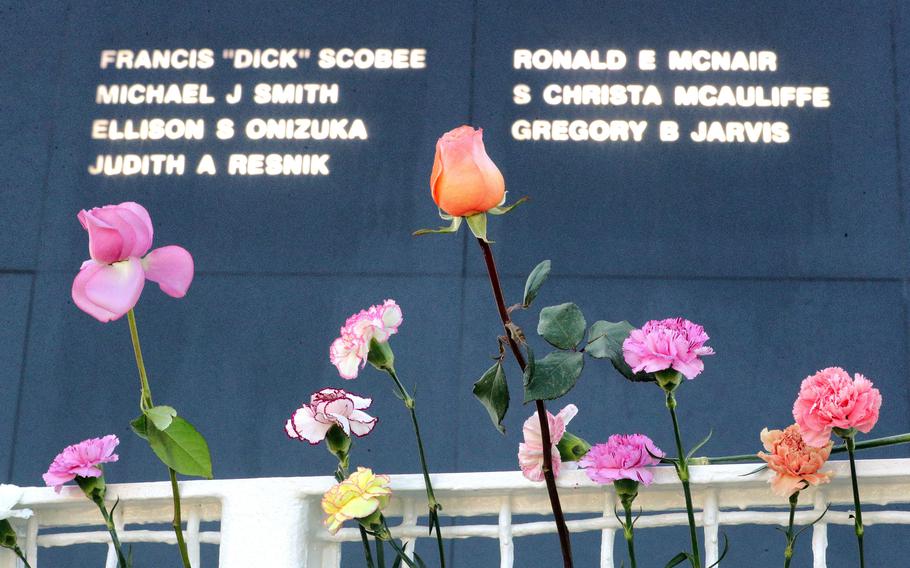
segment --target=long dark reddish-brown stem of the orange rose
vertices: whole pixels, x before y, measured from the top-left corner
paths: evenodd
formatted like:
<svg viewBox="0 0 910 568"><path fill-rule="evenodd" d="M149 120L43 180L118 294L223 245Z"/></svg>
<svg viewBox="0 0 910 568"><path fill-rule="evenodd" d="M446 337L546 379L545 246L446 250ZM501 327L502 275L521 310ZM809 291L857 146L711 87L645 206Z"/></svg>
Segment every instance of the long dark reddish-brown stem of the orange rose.
<svg viewBox="0 0 910 568"><path fill-rule="evenodd" d="M483 239L477 239L477 243L480 245L481 251L483 251L487 274L490 277L490 287L493 289L493 298L496 300L496 308L499 311L499 318L502 320L506 341L523 373L527 363L510 331L514 324L506 309L505 299L502 295L502 285L499 282L499 274L496 271L493 250L490 248L489 243ZM553 510L553 519L556 522L556 532L559 534L563 566L564 568L572 568L572 541L569 537L569 527L566 525L565 515L562 512L562 503L559 502L559 492L556 490L556 476L553 475L553 456L550 450L550 422L547 419L547 408L542 400L537 400L535 403L537 406L537 418L540 421L541 440L543 442L543 475L547 484L547 494L550 497L550 507Z"/></svg>

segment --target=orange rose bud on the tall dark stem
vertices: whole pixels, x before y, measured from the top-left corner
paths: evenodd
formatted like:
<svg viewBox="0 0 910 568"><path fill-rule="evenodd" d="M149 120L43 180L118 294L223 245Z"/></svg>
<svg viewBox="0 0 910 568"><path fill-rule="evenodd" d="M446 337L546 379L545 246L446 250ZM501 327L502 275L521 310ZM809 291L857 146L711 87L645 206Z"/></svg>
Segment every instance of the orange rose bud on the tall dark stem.
<svg viewBox="0 0 910 568"><path fill-rule="evenodd" d="M470 217L500 205L506 184L483 147L483 129L459 126L436 142L430 175L433 201L453 217Z"/></svg>

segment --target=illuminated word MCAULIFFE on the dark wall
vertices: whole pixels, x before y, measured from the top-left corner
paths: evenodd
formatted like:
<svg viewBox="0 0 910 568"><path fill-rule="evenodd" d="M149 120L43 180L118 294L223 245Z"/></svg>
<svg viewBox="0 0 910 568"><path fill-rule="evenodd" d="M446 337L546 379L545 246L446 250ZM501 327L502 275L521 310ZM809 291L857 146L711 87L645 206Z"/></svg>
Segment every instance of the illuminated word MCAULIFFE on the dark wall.
<svg viewBox="0 0 910 568"><path fill-rule="evenodd" d="M678 106L738 106L738 107L804 107L831 106L828 87L756 87L730 85L700 85L673 90L673 100Z"/></svg>

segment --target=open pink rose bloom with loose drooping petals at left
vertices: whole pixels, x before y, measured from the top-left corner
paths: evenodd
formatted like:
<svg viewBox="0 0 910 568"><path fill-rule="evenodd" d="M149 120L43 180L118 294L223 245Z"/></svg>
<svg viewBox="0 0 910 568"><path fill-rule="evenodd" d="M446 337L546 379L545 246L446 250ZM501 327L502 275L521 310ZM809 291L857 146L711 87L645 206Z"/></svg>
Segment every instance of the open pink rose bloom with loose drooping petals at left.
<svg viewBox="0 0 910 568"><path fill-rule="evenodd" d="M78 218L88 232L91 256L73 281L73 302L79 309L104 323L116 320L139 301L146 279L169 296L186 295L193 281L193 257L178 246L148 252L153 229L143 206L127 201L83 209Z"/></svg>

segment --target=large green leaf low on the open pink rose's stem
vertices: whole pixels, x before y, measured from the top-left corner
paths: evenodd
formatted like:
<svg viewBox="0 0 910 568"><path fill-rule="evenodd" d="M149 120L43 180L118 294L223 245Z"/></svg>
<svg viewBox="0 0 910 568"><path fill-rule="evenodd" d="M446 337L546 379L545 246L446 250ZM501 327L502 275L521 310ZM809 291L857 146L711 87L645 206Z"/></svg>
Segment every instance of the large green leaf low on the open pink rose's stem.
<svg viewBox="0 0 910 568"><path fill-rule="evenodd" d="M152 451L165 465L182 475L212 478L212 457L202 434L179 416L170 426L159 430L146 421L146 432Z"/></svg>

